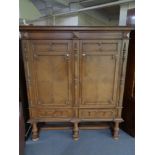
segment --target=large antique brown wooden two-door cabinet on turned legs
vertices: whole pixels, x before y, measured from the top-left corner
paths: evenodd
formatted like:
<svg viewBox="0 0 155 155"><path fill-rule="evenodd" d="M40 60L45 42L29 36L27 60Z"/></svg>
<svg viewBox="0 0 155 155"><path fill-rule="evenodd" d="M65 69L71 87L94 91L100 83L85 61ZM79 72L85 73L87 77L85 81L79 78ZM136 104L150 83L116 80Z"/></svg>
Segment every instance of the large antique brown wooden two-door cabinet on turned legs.
<svg viewBox="0 0 155 155"><path fill-rule="evenodd" d="M32 139L39 122L122 122L129 27L20 26Z"/></svg>

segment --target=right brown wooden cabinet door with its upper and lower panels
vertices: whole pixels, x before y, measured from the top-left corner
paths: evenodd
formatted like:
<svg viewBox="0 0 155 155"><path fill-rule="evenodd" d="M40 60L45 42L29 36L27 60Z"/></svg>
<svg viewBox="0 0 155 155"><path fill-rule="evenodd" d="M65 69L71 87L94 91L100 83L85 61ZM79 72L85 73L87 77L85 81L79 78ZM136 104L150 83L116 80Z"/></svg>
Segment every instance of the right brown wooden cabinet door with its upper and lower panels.
<svg viewBox="0 0 155 155"><path fill-rule="evenodd" d="M121 40L80 41L80 107L115 107Z"/></svg>

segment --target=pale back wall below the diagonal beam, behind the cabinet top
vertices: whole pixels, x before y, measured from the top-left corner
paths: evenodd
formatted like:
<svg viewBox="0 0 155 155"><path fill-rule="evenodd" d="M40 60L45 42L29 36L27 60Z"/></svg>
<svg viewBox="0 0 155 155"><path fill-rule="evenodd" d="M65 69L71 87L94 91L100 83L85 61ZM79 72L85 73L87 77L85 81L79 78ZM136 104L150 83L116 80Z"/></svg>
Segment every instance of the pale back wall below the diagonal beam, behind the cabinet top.
<svg viewBox="0 0 155 155"><path fill-rule="evenodd" d="M56 26L104 26L118 25L118 19L107 18L97 11L74 13L71 15L56 16L55 22L52 16L31 21L34 25L56 25Z"/></svg>

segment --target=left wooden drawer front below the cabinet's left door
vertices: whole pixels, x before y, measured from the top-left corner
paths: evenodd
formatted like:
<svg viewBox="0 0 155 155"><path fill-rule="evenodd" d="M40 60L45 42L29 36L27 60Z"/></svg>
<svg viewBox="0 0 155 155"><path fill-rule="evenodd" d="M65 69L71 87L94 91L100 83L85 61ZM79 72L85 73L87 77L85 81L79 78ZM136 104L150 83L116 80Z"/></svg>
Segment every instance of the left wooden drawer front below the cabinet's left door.
<svg viewBox="0 0 155 155"><path fill-rule="evenodd" d="M72 109L35 109L31 110L32 118L72 118Z"/></svg>

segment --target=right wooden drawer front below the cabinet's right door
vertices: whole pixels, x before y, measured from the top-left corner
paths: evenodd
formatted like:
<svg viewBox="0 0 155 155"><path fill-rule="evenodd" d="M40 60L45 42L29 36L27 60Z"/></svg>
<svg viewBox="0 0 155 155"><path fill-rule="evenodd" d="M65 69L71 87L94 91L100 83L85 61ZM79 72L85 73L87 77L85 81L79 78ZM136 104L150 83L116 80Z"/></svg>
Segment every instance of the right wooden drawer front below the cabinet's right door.
<svg viewBox="0 0 155 155"><path fill-rule="evenodd" d="M81 119L113 119L115 110L105 109L80 109L79 118Z"/></svg>

